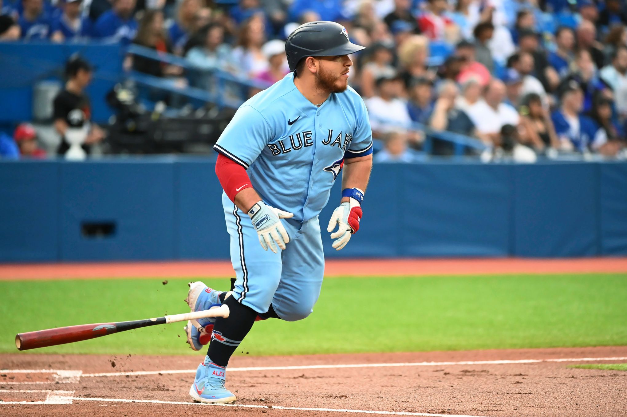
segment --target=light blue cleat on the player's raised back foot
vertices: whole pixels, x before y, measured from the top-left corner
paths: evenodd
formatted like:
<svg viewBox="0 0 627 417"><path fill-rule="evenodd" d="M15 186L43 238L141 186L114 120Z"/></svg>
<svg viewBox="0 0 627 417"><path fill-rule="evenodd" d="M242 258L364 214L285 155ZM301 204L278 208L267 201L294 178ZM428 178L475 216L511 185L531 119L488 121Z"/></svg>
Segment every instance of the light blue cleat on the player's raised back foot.
<svg viewBox="0 0 627 417"><path fill-rule="evenodd" d="M213 307L219 307L220 294L222 292L207 287L204 282L196 281L189 283L189 292L185 302L189 308L194 311L209 310ZM183 327L187 335L187 343L194 351L203 349L203 346L211 340L211 331L213 324L216 322L215 317L209 319L189 320L187 325Z"/></svg>

